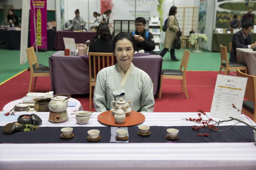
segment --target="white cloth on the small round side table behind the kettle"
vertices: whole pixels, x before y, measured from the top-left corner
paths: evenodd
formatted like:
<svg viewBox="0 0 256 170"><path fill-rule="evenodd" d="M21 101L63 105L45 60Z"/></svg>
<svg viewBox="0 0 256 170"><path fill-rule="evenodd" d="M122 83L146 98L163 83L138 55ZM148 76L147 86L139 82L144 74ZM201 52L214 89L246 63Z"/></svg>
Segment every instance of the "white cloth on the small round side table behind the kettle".
<svg viewBox="0 0 256 170"><path fill-rule="evenodd" d="M66 97L65 97L66 98ZM76 106L75 107L68 107L67 109L67 112L77 112L77 111L80 111L80 110L83 110L83 107L80 103L80 101L74 99L74 98L69 98L68 99L70 102L76 102ZM6 112L6 111L11 111L11 109L14 108L15 105L18 105L19 103L23 103L22 99L18 99L18 100L14 100L14 101L11 101L10 103L8 103L7 105L5 105L3 107L3 112Z"/></svg>

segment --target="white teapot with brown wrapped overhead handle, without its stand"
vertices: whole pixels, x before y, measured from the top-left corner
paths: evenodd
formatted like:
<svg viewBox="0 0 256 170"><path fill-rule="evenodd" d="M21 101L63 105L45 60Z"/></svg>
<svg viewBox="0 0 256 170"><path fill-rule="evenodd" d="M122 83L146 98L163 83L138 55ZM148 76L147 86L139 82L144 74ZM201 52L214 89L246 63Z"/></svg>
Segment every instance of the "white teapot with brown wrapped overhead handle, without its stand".
<svg viewBox="0 0 256 170"><path fill-rule="evenodd" d="M64 97L57 97L57 96L67 96ZM69 94L56 94L52 96L52 100L49 102L49 109L54 113L60 113L68 109L68 102L71 96Z"/></svg>

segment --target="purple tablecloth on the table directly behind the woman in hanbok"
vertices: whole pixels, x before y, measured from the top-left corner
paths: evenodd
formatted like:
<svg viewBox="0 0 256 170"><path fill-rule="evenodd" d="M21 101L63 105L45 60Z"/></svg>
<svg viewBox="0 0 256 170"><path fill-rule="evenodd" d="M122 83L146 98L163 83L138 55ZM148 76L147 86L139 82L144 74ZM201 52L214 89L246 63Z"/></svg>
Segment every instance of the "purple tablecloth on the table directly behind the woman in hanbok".
<svg viewBox="0 0 256 170"><path fill-rule="evenodd" d="M89 93L88 56L58 56L62 53L63 51L58 51L49 58L52 91L55 94ZM153 94L157 95L160 89L162 57L160 55L133 57L132 63L150 76L154 84Z"/></svg>

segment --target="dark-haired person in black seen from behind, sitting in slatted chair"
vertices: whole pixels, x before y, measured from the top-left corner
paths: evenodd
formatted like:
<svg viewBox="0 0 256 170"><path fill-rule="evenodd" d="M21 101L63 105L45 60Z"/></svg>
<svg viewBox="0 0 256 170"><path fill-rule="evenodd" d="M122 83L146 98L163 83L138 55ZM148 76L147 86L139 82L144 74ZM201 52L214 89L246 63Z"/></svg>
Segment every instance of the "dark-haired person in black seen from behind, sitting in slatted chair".
<svg viewBox="0 0 256 170"><path fill-rule="evenodd" d="M108 39L110 35L109 26L104 23L98 29L99 38L92 42L89 46L89 53L112 53L112 41ZM89 56L90 57L90 56ZM96 75L98 74L98 57L95 56ZM100 69L102 69L102 56L100 56ZM115 57L114 57L115 64ZM112 65L112 58L109 57L109 66ZM107 60L105 59L105 67L107 67ZM91 68L93 68L93 56L91 56ZM94 70L92 69L92 75Z"/></svg>

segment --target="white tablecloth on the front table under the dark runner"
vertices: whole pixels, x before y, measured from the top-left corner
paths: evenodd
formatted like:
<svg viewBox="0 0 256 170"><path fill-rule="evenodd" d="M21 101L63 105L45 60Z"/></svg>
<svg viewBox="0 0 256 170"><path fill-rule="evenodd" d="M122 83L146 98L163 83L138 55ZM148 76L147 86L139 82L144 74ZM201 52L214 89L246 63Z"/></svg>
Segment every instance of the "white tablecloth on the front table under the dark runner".
<svg viewBox="0 0 256 170"><path fill-rule="evenodd" d="M0 114L2 113L0 112ZM43 120L41 127L104 126L97 121L99 114L94 112L87 124L78 125L75 115L71 115L71 113L68 113L69 120L60 124L49 122L48 112L38 113ZM181 120L189 117L197 118L197 113L143 114L146 119L141 125L200 125L196 122ZM219 118L213 119L219 120ZM249 123L247 119L244 121ZM0 126L7 123L0 122ZM221 125L233 124L234 122L224 122ZM253 125L256 124L253 122ZM244 126L244 124L237 124L237 126ZM0 137L1 135L3 134L1 133ZM255 167L256 146L252 142L0 144L0 169L255 170Z"/></svg>

